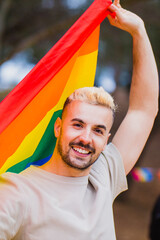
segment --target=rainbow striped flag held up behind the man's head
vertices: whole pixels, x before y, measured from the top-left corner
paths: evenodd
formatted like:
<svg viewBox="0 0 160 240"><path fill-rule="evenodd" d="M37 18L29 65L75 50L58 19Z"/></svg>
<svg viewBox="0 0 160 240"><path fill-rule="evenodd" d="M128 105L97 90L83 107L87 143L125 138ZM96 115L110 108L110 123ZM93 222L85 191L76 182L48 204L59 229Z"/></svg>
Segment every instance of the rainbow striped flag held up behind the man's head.
<svg viewBox="0 0 160 240"><path fill-rule="evenodd" d="M94 85L99 25L110 4L95 0L0 103L0 173L19 173L51 158L53 126L66 97Z"/></svg>

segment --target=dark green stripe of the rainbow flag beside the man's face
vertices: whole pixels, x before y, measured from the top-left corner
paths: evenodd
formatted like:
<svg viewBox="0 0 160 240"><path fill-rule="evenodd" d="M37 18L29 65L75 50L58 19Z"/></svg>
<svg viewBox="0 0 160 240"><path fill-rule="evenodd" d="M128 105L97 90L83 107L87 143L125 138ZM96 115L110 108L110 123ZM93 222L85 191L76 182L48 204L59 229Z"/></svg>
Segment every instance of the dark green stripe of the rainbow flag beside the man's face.
<svg viewBox="0 0 160 240"><path fill-rule="evenodd" d="M58 117L61 117L61 114L62 110L54 112L46 128L46 131L44 132L43 137L33 155L10 167L7 172L20 173L26 168L28 164L37 162L53 154L56 144L56 137L54 135L54 123Z"/></svg>

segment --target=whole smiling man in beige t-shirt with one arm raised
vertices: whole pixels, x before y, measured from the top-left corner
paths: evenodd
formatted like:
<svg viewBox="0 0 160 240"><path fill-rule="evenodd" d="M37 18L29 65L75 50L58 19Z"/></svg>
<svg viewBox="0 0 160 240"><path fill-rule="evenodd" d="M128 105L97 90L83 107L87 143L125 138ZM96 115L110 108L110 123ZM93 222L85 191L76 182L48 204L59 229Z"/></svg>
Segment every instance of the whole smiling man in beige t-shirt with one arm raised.
<svg viewBox="0 0 160 240"><path fill-rule="evenodd" d="M76 90L66 101L52 158L42 167L0 180L0 239L115 239L112 204L127 189L158 109L158 75L143 21L110 6L112 25L133 37L129 109L107 144L115 105L102 88Z"/></svg>

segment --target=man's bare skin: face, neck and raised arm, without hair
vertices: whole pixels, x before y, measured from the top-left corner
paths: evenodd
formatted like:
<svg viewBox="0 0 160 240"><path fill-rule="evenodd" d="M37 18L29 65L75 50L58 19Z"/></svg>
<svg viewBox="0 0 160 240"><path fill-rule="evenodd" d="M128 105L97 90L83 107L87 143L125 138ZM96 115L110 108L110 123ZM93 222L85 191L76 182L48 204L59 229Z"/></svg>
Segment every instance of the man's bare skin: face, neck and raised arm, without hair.
<svg viewBox="0 0 160 240"><path fill-rule="evenodd" d="M137 15L124 10L115 0L109 7L116 12L110 24L129 32L133 38L133 75L128 112L112 143L121 153L126 174L136 163L152 129L158 111L158 73L152 48ZM52 158L41 168L62 176L88 175L91 164L107 144L112 126L111 110L74 101L57 119L57 143Z"/></svg>

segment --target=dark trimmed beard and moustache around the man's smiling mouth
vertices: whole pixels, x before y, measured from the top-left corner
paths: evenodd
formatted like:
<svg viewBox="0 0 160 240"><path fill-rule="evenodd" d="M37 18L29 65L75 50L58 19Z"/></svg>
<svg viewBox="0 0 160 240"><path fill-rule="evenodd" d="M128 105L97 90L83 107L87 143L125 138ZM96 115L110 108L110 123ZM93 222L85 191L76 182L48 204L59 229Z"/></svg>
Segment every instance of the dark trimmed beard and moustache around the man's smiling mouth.
<svg viewBox="0 0 160 240"><path fill-rule="evenodd" d="M69 146L73 146L73 145L76 145L76 146L79 146L79 147L83 147L84 149L87 149L87 150L90 150L91 151L91 154L94 154L95 153L95 149L92 148L91 146L89 146L88 144L87 145L84 145L82 142L79 142L79 143L74 143L74 142L71 142L69 144ZM84 163L84 165L82 166L77 166L76 164L72 163L72 161L70 160L70 157L69 157L69 150L68 152L64 153L63 150L62 150L62 143L61 143L61 138L59 139L58 141L58 145L57 145L57 150L58 150L58 153L60 154L62 160L70 167L74 168L74 169L78 169L78 170L85 170L85 169L88 169L97 159L98 159L98 156L96 157L95 156L95 159L90 158L90 160L87 162L87 163ZM78 158L78 160L81 160L81 158Z"/></svg>

